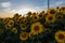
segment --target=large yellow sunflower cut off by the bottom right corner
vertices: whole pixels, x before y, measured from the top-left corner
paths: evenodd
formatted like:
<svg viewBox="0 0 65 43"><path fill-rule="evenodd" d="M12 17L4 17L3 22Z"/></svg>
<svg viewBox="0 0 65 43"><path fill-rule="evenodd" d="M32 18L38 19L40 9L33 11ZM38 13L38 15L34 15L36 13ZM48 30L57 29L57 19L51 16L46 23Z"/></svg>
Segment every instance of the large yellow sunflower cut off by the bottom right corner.
<svg viewBox="0 0 65 43"><path fill-rule="evenodd" d="M58 30L57 32L55 32L55 40L60 43L64 43L65 42L65 31Z"/></svg>

